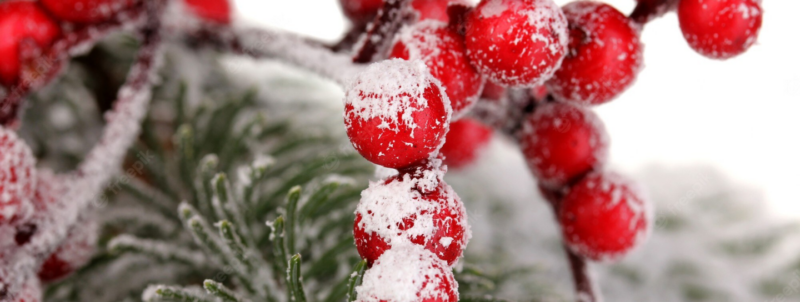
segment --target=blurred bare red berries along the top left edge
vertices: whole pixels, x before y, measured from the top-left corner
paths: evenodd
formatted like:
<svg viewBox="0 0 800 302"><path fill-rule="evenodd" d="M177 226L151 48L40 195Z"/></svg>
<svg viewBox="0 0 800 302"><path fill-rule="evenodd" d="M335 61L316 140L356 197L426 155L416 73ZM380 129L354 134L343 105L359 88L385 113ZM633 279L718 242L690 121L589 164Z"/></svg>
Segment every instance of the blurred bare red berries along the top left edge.
<svg viewBox="0 0 800 302"><path fill-rule="evenodd" d="M64 62L40 62L43 52L72 31L108 22L141 7L143 0L9 0L0 3L0 85L9 89L25 76L52 76ZM228 0L183 0L200 18L230 23ZM46 63L46 64L44 64ZM48 70L42 70L48 69ZM33 72L33 73L30 73ZM49 79L44 79L47 82Z"/></svg>

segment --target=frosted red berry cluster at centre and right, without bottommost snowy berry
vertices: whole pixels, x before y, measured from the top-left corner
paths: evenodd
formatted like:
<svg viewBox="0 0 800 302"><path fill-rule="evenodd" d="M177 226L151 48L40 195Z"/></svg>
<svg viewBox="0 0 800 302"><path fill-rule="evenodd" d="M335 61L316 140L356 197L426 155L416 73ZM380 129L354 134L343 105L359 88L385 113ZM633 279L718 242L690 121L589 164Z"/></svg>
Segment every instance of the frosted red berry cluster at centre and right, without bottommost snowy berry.
<svg viewBox="0 0 800 302"><path fill-rule="evenodd" d="M384 7L381 0L341 3L356 25ZM461 203L431 176L446 170L435 163L442 155L453 166L473 160L492 130L466 117L471 108L479 100L501 103L507 89L520 88L530 104L519 108L515 135L554 205L566 245L584 258L614 260L641 242L652 211L636 185L604 171L608 135L589 107L615 99L635 81L643 66L643 23L590 0L564 7L552 0L410 3L417 21L395 37L390 59L346 87L344 119L353 146L369 161L400 171L362 194L354 228L361 256L381 263L394 245L411 242L453 264L463 245L452 244L466 244L453 236L468 232ZM679 0L677 9L690 46L713 58L742 53L761 25L759 0ZM448 219L454 222L447 225ZM363 299L391 301L368 296Z"/></svg>

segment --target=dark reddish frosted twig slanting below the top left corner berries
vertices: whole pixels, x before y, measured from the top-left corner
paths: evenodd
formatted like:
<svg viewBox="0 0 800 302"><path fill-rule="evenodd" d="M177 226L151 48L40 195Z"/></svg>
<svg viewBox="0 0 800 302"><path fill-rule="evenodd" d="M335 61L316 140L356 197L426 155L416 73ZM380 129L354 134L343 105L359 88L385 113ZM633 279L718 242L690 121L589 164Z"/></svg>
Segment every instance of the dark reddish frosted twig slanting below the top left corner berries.
<svg viewBox="0 0 800 302"><path fill-rule="evenodd" d="M60 73L70 56L88 51L111 33L141 25L143 17L143 9L134 8L109 21L65 33L45 53L34 52L26 56L23 52L22 60L30 66L23 69L19 84L10 88L0 101L0 124L7 126L14 123L25 96L46 85L49 79Z"/></svg>

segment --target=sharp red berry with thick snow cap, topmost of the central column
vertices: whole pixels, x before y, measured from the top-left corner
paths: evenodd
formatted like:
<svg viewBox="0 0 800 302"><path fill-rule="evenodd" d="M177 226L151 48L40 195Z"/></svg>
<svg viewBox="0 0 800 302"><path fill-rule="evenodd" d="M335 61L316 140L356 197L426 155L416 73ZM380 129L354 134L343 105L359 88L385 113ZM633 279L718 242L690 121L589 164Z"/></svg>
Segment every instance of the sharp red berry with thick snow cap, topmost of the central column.
<svg viewBox="0 0 800 302"><path fill-rule="evenodd" d="M347 136L372 163L414 166L435 156L444 143L450 101L424 63L373 63L345 91Z"/></svg>

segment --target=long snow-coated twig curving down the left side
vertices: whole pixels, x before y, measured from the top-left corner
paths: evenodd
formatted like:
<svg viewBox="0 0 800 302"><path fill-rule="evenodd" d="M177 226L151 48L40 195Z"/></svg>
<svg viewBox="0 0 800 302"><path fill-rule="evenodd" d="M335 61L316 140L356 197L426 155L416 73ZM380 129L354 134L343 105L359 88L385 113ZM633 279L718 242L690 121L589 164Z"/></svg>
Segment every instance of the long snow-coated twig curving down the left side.
<svg viewBox="0 0 800 302"><path fill-rule="evenodd" d="M147 18L140 28L142 47L118 93L114 109L106 116L107 124L99 143L75 172L63 178L64 193L53 210L42 213L31 241L14 253L10 267L0 267L0 279L9 283L9 292L18 290L26 277L35 274L44 258L58 248L67 232L121 169L150 103L150 90L161 60L160 15L164 4L163 0L146 1Z"/></svg>

